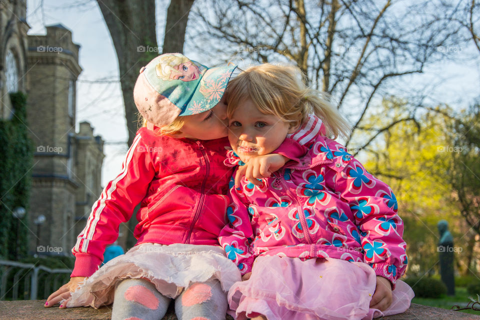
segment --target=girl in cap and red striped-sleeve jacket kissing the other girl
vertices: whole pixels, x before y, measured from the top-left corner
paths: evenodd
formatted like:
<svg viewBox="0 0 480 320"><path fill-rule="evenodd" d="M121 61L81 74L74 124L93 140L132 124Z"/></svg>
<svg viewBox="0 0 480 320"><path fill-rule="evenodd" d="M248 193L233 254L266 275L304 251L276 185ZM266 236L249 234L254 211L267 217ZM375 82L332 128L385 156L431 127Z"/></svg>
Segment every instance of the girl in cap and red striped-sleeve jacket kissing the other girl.
<svg viewBox="0 0 480 320"><path fill-rule="evenodd" d="M179 53L162 54L141 68L133 95L146 125L120 174L92 206L72 249L70 281L45 306L113 301L112 319L147 320L162 318L174 299L180 320L225 318L226 292L240 280L217 240L232 173L223 164L223 92L235 68L208 68ZM282 156L268 158L278 157L282 165ZM98 268L105 246L138 203L136 245Z"/></svg>

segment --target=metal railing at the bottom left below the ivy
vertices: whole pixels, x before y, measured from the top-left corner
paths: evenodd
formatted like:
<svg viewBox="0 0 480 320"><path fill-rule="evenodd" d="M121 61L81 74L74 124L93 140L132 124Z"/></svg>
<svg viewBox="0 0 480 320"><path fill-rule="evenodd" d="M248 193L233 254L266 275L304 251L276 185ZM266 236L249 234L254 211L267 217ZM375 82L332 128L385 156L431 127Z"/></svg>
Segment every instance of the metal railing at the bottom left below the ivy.
<svg viewBox="0 0 480 320"><path fill-rule="evenodd" d="M0 260L0 300L18 300L20 295L23 296L23 300L46 298L53 290L68 281L70 273L70 269L50 269L32 263ZM43 294L38 296L40 278ZM23 289L20 295L19 287Z"/></svg>

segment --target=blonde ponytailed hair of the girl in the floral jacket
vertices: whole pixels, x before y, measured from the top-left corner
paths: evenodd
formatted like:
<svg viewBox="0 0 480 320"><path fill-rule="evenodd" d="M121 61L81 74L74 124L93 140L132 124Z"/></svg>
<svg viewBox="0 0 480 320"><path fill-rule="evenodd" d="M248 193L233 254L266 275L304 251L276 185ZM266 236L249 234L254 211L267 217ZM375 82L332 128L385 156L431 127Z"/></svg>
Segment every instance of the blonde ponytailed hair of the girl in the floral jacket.
<svg viewBox="0 0 480 320"><path fill-rule="evenodd" d="M305 80L301 70L292 65L263 63L249 67L228 82L228 117L240 101L250 99L260 112L276 115L290 127L300 126L308 114L314 113L325 125L327 136L347 137L350 124L330 102L330 96L307 86Z"/></svg>

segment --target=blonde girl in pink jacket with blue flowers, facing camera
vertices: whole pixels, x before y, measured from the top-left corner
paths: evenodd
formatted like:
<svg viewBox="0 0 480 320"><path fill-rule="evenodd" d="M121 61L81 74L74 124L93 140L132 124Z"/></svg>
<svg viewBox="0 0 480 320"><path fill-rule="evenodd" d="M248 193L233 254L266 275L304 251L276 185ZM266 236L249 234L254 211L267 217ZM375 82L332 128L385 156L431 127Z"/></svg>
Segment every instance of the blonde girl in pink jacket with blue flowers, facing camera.
<svg viewBox="0 0 480 320"><path fill-rule="evenodd" d="M268 178L231 183L219 241L246 279L228 293L237 318L353 320L405 311L413 291L398 280L407 257L396 198L327 137L349 130L337 109L305 86L297 67L268 63L232 79L227 104L225 163L243 170L285 141L290 148L281 154L292 159L277 172L246 171Z"/></svg>

